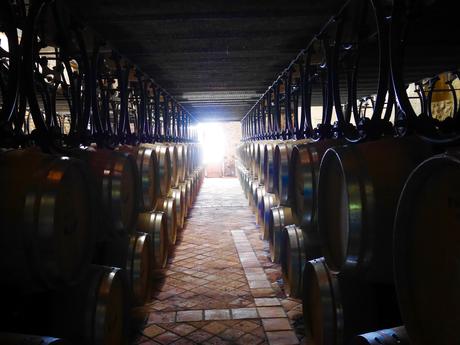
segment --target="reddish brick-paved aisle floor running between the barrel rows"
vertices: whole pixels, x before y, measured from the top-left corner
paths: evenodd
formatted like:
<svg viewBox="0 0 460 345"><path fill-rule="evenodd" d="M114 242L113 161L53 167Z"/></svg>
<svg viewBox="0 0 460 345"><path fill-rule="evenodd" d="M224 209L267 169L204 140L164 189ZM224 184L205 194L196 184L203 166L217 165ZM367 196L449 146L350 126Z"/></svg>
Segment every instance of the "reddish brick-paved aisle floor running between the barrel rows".
<svg viewBox="0 0 460 345"><path fill-rule="evenodd" d="M284 295L247 205L236 178L205 179L136 344L302 343L301 304Z"/></svg>

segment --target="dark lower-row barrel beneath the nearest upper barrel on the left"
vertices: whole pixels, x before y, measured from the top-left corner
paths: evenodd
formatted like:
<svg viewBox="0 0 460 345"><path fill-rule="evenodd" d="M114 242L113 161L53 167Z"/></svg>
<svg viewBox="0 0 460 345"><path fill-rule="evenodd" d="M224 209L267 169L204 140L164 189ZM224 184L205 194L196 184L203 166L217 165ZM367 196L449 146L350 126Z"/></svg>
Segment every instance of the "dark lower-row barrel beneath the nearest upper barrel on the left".
<svg viewBox="0 0 460 345"><path fill-rule="evenodd" d="M46 334L72 344L126 345L128 285L125 270L91 265L72 287L30 296L13 293L2 304L2 331Z"/></svg>

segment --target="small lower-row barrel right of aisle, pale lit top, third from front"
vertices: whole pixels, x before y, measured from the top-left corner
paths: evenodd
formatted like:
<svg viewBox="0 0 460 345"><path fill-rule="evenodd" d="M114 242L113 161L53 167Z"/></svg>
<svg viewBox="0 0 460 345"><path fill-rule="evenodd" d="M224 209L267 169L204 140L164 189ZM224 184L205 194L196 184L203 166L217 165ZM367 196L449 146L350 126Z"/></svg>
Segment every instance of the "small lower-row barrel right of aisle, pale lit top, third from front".
<svg viewBox="0 0 460 345"><path fill-rule="evenodd" d="M272 262L280 263L283 228L295 224L292 209L287 206L276 206L270 209L268 218L268 240Z"/></svg>

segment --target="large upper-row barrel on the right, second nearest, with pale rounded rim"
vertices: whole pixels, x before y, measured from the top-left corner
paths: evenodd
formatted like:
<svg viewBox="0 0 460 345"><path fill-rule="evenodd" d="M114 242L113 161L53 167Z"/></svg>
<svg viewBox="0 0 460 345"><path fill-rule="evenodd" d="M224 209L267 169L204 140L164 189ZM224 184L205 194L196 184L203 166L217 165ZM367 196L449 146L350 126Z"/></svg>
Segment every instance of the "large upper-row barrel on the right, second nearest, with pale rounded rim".
<svg viewBox="0 0 460 345"><path fill-rule="evenodd" d="M404 182L431 146L416 137L329 149L318 184L318 221L329 268L393 282L392 229ZM382 159L391 157L391 159Z"/></svg>

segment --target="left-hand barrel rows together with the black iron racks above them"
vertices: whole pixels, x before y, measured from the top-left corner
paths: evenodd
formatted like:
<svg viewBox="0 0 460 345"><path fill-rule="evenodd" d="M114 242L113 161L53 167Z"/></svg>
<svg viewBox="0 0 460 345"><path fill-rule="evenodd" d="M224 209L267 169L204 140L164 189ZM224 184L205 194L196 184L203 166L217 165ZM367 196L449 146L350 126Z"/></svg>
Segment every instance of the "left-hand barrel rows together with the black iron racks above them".
<svg viewBox="0 0 460 345"><path fill-rule="evenodd" d="M2 1L0 33L0 343L127 344L204 178L193 118L64 1Z"/></svg>

